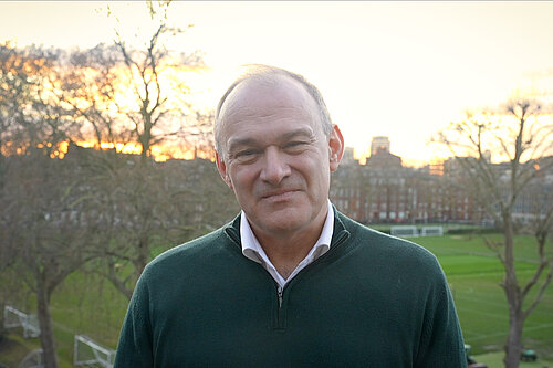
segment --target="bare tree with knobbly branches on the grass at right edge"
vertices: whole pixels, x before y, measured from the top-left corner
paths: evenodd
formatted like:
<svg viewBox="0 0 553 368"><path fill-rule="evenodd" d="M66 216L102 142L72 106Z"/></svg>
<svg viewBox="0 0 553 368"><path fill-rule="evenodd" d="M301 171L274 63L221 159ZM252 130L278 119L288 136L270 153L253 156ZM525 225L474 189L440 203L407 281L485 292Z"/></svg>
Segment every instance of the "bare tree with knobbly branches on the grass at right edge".
<svg viewBox="0 0 553 368"><path fill-rule="evenodd" d="M540 119L540 112L543 109L536 102L514 99L502 114L468 114L467 119L452 123L435 138L457 157L467 178L466 188L503 233L500 243L487 239L487 245L497 253L505 272L501 287L509 305L510 327L504 345L508 368L519 366L524 322L553 277L553 260L545 252L552 232L553 198L543 179L544 172L553 169L553 125ZM493 164L493 158L503 164ZM517 206L524 196L534 201L521 223ZM536 267L525 282L517 274L514 254L514 235L521 229L530 229L536 241ZM538 291L531 295L533 288Z"/></svg>

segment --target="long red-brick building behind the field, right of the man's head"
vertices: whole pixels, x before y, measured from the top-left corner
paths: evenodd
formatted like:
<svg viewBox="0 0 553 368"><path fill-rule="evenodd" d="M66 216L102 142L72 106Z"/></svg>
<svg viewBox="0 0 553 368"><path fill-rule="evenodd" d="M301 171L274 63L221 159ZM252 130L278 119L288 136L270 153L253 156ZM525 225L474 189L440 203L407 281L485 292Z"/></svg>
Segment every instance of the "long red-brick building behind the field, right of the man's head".
<svg viewBox="0 0 553 368"><path fill-rule="evenodd" d="M401 158L389 153L389 141L377 138L365 165L348 159L333 174L330 197L345 214L362 223L490 221L476 196L468 191L469 186L462 185L470 177L459 160L471 158L450 158L439 168L436 165L404 167ZM550 161L553 157L542 160ZM540 167L539 162L535 167ZM509 167L498 164L493 168L501 180L505 180ZM541 211L540 203L553 200L551 189L553 172L540 172L520 196L514 217L520 220L535 217Z"/></svg>

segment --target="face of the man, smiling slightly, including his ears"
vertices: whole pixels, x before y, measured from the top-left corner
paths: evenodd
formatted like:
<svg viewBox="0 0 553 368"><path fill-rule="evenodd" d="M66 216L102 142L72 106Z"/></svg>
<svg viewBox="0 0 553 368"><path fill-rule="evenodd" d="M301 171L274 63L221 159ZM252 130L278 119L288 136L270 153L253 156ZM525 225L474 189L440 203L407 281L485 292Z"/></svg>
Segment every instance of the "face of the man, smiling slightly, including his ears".
<svg viewBox="0 0 553 368"><path fill-rule="evenodd" d="M323 133L304 87L286 77L270 85L242 82L221 114L217 166L255 234L279 238L321 227L343 139L337 127L330 137Z"/></svg>

